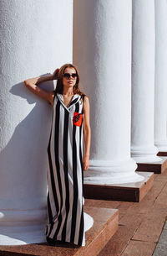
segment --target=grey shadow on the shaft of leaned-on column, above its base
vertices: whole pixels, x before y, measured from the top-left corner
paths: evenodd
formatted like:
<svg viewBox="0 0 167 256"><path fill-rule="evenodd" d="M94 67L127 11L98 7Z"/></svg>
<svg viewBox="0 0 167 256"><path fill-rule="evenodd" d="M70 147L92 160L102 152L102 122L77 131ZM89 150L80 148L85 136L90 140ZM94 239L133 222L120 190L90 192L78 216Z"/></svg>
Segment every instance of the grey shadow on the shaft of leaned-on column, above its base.
<svg viewBox="0 0 167 256"><path fill-rule="evenodd" d="M54 90L53 81L45 82L40 86L49 91ZM2 207L20 210L45 209L47 147L52 106L28 91L23 82L14 85L10 92L27 99L29 104L36 104L15 128L12 138L0 153L0 185L1 191L4 191L4 195L1 194L0 211ZM17 109L13 108L13 115L17 115Z"/></svg>

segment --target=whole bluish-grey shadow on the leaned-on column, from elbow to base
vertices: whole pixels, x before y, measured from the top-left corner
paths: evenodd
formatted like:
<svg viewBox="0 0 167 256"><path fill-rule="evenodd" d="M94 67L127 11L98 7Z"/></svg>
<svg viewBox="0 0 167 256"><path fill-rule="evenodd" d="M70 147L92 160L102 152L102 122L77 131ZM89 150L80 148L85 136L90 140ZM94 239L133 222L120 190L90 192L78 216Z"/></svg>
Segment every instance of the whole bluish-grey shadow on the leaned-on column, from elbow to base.
<svg viewBox="0 0 167 256"><path fill-rule="evenodd" d="M53 81L40 86L49 91L54 90ZM0 229L1 236L29 243L29 238L23 235L23 231L18 230L19 226L27 226L26 223L29 223L29 226L33 222L33 225L38 227L38 236L43 237L47 220L47 148L53 107L28 91L23 82L14 85L10 93L26 99L28 104L35 104L32 109L23 102L23 112L27 113L28 109L30 112L20 123L17 118L11 117L11 122L17 121L18 125L8 144L0 152L0 221L7 222L7 225L12 222L13 226L6 228L0 225ZM18 111L20 114L17 107L22 106L14 106L13 112L10 109L8 115L17 115ZM13 123L11 127L14 127ZM8 129L9 134L11 133L10 127L5 129L7 133L4 136L8 136Z"/></svg>

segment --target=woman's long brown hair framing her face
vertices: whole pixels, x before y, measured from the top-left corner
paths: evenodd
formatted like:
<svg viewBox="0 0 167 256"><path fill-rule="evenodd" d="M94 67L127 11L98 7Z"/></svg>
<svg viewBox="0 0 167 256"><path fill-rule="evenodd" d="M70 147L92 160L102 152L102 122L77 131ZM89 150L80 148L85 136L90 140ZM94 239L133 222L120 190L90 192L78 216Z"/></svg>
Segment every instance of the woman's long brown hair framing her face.
<svg viewBox="0 0 167 256"><path fill-rule="evenodd" d="M79 75L78 75L78 70L73 64L64 64L61 66L61 68L58 71L58 81L57 81L57 86L54 91L54 93L60 93L63 94L63 74L66 68L73 68L76 71L77 74L77 81L76 84L73 86L73 93L74 94L79 94L79 95L84 95L82 91L79 89Z"/></svg>

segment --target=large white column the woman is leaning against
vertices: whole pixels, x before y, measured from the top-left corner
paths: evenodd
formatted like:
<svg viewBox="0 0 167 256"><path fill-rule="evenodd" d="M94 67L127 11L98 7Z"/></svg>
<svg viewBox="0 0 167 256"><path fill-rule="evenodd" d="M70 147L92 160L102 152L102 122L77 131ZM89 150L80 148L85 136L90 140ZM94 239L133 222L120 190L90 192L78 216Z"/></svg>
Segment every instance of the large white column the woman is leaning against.
<svg viewBox="0 0 167 256"><path fill-rule="evenodd" d="M52 112L23 81L72 61L73 1L2 0L0 6L0 245L41 243Z"/></svg>

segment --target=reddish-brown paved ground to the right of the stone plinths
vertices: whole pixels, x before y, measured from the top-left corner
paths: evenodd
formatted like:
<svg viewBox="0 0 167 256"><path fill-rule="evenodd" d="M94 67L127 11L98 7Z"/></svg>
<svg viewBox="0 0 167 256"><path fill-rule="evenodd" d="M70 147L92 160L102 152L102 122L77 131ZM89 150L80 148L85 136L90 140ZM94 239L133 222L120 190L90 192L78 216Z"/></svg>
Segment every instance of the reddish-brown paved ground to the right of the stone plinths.
<svg viewBox="0 0 167 256"><path fill-rule="evenodd" d="M119 229L99 256L167 256L167 250L160 254L167 243L167 172L154 175L153 188L139 203L89 200L87 205L119 209Z"/></svg>

